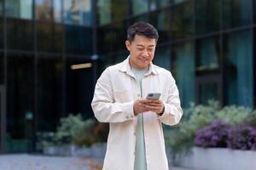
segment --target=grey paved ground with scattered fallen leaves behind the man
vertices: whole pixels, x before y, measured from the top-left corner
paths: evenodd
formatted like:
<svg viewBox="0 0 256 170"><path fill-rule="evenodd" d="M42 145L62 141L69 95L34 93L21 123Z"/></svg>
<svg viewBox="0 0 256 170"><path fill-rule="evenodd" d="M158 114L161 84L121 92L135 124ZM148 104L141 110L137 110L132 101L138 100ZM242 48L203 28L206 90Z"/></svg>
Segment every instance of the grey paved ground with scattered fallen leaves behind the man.
<svg viewBox="0 0 256 170"><path fill-rule="evenodd" d="M0 170L101 170L102 160L88 157L0 155ZM171 167L170 170L189 170Z"/></svg>

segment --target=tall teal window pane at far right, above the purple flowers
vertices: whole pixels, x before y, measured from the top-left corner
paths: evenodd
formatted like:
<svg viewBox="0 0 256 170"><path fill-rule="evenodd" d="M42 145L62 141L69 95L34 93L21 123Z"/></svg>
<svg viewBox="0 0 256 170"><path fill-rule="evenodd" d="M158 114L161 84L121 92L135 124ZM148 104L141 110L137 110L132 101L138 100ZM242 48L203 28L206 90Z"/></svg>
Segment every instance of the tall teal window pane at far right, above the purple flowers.
<svg viewBox="0 0 256 170"><path fill-rule="evenodd" d="M253 56L251 31L227 35L224 55L224 95L228 105L253 106Z"/></svg>

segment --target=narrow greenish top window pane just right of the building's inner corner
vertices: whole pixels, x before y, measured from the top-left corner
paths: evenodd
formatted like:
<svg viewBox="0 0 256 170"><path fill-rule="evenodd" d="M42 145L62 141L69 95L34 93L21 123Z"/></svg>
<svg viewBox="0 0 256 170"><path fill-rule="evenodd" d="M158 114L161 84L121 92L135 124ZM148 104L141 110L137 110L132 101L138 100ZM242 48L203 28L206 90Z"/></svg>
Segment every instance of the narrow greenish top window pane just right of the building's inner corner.
<svg viewBox="0 0 256 170"><path fill-rule="evenodd" d="M97 20L100 26L111 22L111 2L110 0L97 1Z"/></svg>

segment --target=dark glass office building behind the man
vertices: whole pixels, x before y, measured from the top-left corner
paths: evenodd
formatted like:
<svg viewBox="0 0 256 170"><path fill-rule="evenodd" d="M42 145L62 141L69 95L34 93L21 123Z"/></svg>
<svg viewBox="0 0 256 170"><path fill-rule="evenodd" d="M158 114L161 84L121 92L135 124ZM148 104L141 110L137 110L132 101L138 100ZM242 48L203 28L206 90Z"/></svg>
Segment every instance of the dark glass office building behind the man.
<svg viewBox="0 0 256 170"><path fill-rule="evenodd" d="M190 102L255 107L254 0L0 0L1 151L35 151L61 116L91 117L102 70L125 59L126 29L160 33L154 63ZM98 56L98 57L97 57ZM73 70L72 65L91 63Z"/></svg>

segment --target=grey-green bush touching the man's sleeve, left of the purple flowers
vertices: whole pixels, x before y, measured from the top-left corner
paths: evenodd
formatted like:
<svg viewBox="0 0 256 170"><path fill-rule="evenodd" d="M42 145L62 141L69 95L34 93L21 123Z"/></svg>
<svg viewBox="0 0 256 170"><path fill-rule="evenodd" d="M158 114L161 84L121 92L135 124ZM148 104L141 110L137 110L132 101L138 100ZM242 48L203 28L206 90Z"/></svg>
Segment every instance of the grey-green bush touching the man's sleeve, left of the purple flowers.
<svg viewBox="0 0 256 170"><path fill-rule="evenodd" d="M208 105L192 103L189 109L183 111L181 122L165 132L166 145L172 150L172 156L194 145L196 131L212 122L217 110L218 102L210 100Z"/></svg>

